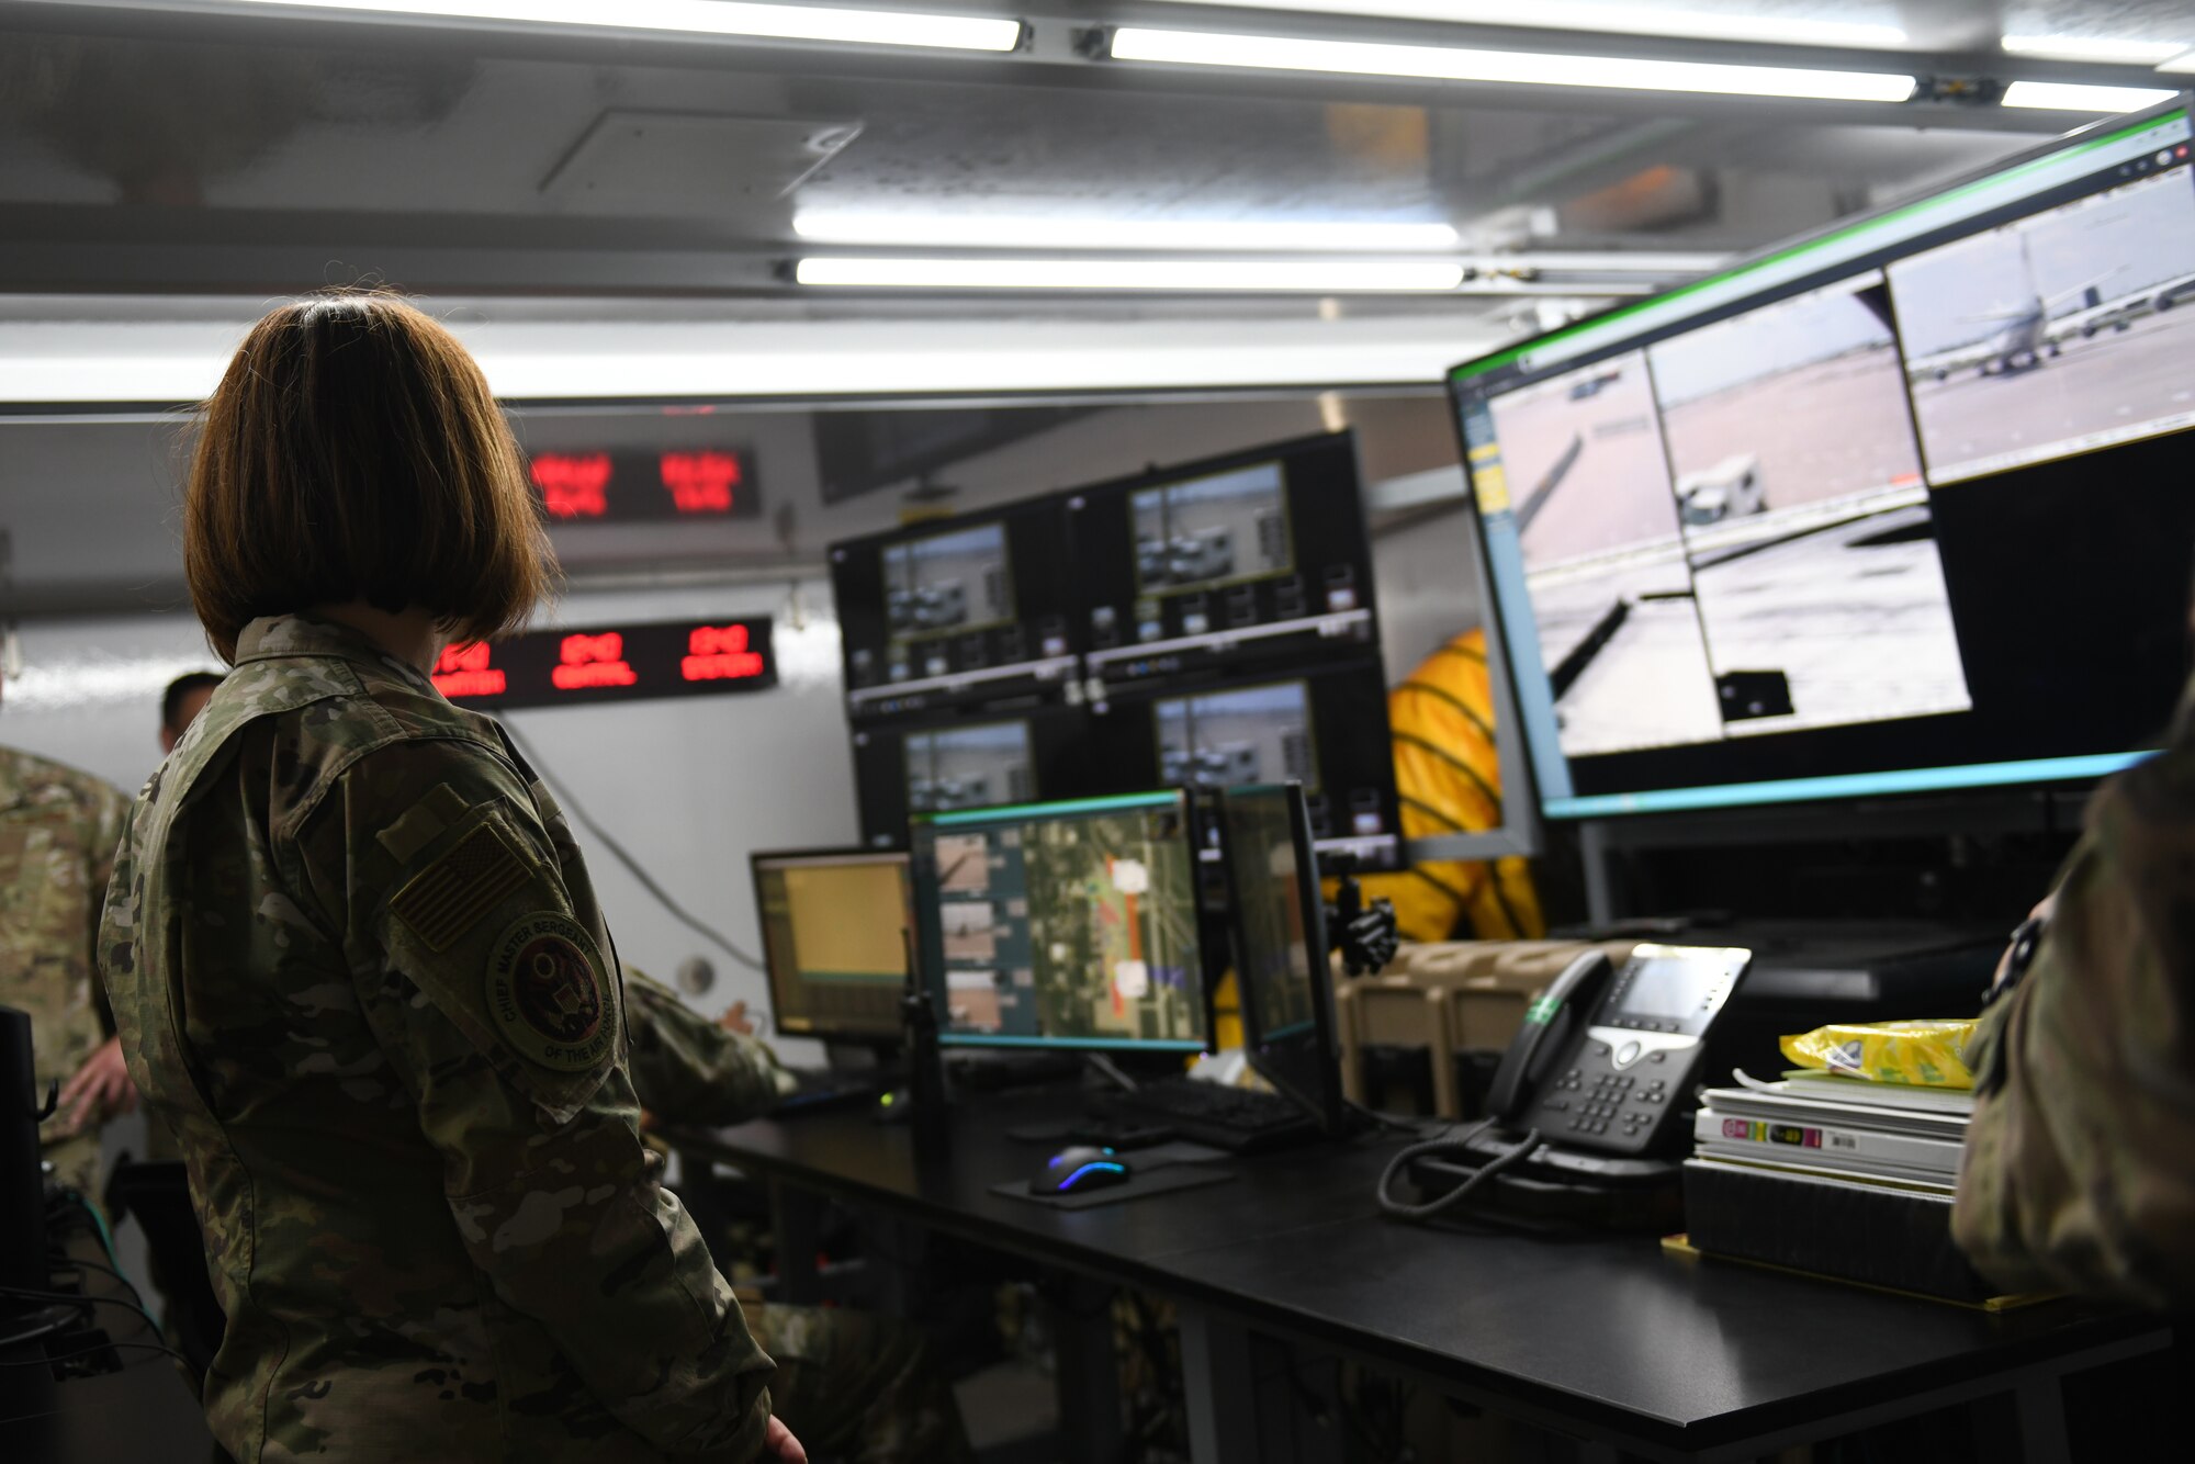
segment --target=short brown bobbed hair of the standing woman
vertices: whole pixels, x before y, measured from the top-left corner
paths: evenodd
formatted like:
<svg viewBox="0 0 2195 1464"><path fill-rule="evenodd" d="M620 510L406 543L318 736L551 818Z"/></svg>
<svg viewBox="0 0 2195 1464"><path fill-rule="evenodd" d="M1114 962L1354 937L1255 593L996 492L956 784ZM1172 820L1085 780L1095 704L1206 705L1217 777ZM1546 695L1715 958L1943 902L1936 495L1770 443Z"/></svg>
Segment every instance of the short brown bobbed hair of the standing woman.
<svg viewBox="0 0 2195 1464"><path fill-rule="evenodd" d="M525 626L555 553L457 336L380 290L312 294L244 338L182 498L191 606L222 661L261 615L362 599L459 641Z"/></svg>

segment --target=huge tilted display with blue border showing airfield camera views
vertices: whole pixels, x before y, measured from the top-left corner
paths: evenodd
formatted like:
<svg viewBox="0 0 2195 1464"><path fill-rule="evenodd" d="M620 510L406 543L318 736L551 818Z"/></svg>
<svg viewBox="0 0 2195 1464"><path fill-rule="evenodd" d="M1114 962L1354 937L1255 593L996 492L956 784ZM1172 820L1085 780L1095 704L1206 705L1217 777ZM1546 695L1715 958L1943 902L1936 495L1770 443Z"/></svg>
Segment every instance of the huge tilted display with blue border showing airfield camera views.
<svg viewBox="0 0 2195 1464"><path fill-rule="evenodd" d="M1550 819L2083 779L2186 676L2177 105L1451 373Z"/></svg>

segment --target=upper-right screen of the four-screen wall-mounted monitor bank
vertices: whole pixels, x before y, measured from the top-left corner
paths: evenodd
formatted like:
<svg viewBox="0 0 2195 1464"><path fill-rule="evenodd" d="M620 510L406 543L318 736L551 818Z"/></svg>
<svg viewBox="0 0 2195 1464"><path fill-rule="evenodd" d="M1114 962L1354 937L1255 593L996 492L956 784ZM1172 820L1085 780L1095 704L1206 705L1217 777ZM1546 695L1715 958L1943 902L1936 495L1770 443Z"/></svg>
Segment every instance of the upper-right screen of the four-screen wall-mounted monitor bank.
<svg viewBox="0 0 2195 1464"><path fill-rule="evenodd" d="M1084 663L1108 685L1378 654L1350 432L1062 498Z"/></svg>

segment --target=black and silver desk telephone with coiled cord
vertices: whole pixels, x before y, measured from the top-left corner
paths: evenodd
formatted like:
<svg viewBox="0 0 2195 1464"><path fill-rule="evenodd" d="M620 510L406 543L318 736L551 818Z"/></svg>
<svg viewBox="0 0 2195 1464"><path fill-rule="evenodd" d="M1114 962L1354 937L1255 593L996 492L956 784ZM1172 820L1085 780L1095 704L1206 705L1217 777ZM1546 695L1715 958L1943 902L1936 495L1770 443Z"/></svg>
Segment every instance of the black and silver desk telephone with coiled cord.
<svg viewBox="0 0 2195 1464"><path fill-rule="evenodd" d="M1662 1170L1624 1161L1684 1146L1708 1029L1749 964L1749 950L1714 946L1637 946L1620 970L1600 950L1580 955L1526 1012L1495 1071L1488 1117L1396 1155L1381 1209L1427 1218L1523 1165L1556 1185ZM1468 1179L1425 1205L1394 1201L1394 1176L1429 1157L1464 1163Z"/></svg>

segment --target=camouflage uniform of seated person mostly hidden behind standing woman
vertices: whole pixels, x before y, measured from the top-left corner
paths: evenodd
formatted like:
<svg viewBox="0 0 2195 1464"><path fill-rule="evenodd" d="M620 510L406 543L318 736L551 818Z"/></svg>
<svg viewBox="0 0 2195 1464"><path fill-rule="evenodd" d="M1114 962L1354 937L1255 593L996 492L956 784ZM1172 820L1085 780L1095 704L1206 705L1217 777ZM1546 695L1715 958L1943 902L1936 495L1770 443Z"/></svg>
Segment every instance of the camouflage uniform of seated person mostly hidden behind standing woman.
<svg viewBox="0 0 2195 1464"><path fill-rule="evenodd" d="M641 1106L669 1124L744 1124L777 1102L770 1049L702 1021L626 968L626 1032ZM770 1405L817 1457L944 1464L975 1457L959 1405L904 1324L742 1295L746 1330L777 1359Z"/></svg>

